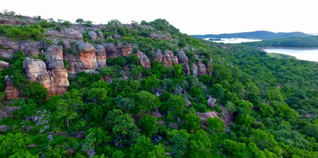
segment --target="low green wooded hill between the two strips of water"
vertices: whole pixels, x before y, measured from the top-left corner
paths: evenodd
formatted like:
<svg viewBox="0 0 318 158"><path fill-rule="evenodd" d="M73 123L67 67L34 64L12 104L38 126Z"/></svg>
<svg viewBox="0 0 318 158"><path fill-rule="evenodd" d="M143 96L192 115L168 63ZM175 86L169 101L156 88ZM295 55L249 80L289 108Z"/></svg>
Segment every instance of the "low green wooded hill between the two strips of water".
<svg viewBox="0 0 318 158"><path fill-rule="evenodd" d="M281 39L263 40L258 42L245 42L243 45L252 47L294 47L294 48L318 48L318 36L289 37Z"/></svg>

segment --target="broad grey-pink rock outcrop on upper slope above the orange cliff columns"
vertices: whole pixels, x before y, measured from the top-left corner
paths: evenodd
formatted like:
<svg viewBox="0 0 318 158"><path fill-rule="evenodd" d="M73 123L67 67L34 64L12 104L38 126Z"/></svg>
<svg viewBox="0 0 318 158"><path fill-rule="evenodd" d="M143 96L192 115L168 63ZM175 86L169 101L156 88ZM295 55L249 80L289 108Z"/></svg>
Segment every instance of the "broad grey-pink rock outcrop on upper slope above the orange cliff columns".
<svg viewBox="0 0 318 158"><path fill-rule="evenodd" d="M63 30L61 32L57 31L57 30L48 31L47 36L62 37L62 38L70 39L70 40L82 40L83 39L83 35L81 34L81 32L79 32L78 30L69 29L69 28L63 28Z"/></svg>

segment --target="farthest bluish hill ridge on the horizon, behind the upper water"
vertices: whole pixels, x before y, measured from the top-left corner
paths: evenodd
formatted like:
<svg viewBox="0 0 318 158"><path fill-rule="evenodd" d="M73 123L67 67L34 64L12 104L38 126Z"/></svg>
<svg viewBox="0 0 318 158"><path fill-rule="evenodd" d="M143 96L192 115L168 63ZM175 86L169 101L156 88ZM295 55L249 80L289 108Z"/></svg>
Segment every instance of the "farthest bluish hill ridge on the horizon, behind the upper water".
<svg viewBox="0 0 318 158"><path fill-rule="evenodd" d="M305 34L303 32L269 32L269 31L254 31L254 32L241 32L233 34L219 34L219 35L192 35L196 38L255 38L255 39L276 39L276 38L287 38L287 37L309 37L312 35Z"/></svg>

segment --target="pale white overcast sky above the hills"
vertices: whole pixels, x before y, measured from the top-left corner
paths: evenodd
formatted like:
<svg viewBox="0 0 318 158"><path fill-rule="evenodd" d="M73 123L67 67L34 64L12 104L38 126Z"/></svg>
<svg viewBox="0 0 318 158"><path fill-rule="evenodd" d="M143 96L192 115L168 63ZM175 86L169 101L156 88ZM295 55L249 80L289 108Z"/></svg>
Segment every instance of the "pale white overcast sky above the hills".
<svg viewBox="0 0 318 158"><path fill-rule="evenodd" d="M106 24L166 19L188 35L250 31L318 33L315 0L1 0L27 16Z"/></svg>

